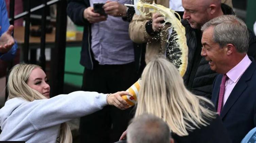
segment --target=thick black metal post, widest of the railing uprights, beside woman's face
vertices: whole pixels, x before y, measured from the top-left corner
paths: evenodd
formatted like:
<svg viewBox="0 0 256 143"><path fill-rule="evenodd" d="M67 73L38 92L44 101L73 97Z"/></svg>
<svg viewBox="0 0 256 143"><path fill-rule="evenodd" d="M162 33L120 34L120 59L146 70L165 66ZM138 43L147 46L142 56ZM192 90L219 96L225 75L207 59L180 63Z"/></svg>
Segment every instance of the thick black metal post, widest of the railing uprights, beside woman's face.
<svg viewBox="0 0 256 143"><path fill-rule="evenodd" d="M67 29L66 8L67 0L57 2L55 47L51 50L51 97L63 93Z"/></svg>

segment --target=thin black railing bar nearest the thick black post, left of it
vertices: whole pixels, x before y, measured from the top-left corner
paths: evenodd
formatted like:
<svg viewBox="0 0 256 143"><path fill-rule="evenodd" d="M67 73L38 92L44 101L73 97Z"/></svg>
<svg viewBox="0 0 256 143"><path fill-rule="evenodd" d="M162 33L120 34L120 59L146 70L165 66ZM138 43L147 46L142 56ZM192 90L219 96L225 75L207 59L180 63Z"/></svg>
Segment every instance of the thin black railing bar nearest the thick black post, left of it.
<svg viewBox="0 0 256 143"><path fill-rule="evenodd" d="M44 0L44 8L42 8L42 23L41 23L41 43L40 43L40 56L38 65L45 71L45 34L46 34L46 8L47 1Z"/></svg>

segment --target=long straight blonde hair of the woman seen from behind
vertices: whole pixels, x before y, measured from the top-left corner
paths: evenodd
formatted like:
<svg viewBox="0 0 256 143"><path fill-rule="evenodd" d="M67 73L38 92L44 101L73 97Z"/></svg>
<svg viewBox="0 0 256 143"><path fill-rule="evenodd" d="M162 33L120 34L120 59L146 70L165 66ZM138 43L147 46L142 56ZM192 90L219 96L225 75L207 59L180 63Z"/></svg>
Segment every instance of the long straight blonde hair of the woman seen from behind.
<svg viewBox="0 0 256 143"><path fill-rule="evenodd" d="M216 118L215 112L202 105L213 104L189 92L177 69L166 59L152 59L141 77L135 117L153 114L162 118L179 136L188 135L188 130L207 126L206 120Z"/></svg>

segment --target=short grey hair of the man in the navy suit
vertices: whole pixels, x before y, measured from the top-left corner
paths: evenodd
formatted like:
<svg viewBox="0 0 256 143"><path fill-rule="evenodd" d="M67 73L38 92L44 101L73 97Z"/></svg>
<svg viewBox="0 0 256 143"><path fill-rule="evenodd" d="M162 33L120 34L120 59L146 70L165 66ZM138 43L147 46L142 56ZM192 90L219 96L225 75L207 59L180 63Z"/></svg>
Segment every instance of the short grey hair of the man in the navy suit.
<svg viewBox="0 0 256 143"><path fill-rule="evenodd" d="M245 23L234 15L223 15L206 22L201 30L214 27L213 41L221 48L233 44L239 53L247 53L249 32Z"/></svg>

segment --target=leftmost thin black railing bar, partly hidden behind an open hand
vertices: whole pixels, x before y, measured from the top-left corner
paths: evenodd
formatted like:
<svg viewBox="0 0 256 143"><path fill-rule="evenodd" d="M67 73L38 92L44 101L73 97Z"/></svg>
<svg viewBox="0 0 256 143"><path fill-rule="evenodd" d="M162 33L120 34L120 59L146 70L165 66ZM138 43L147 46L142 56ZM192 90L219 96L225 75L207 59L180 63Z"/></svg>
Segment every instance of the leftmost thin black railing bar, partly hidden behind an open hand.
<svg viewBox="0 0 256 143"><path fill-rule="evenodd" d="M11 25L14 25L14 5L15 5L15 0L10 0L10 13L9 13L9 17L12 19L10 21L10 24ZM13 33L14 33L14 30L13 30ZM12 36L13 36L13 33L12 33ZM7 69L6 69L6 82L5 82L5 85L7 85L7 82L8 82L8 77L9 77L9 72L11 70L13 66L13 62L11 61L10 63L8 63L8 66L7 66ZM5 88L5 101L7 100L7 97L8 97L8 91L7 91L7 88Z"/></svg>

